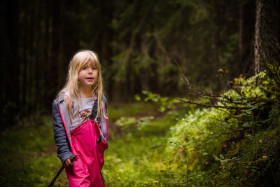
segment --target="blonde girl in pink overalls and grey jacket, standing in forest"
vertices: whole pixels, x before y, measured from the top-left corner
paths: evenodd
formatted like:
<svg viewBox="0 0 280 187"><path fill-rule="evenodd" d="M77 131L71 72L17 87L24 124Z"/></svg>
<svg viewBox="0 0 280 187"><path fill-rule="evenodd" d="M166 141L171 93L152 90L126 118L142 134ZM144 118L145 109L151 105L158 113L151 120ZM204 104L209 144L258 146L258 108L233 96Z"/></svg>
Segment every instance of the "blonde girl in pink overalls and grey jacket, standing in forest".
<svg viewBox="0 0 280 187"><path fill-rule="evenodd" d="M78 51L70 61L66 85L52 104L57 156L69 186L104 186L101 170L108 148L108 118L102 89L97 55ZM76 154L76 162L71 162Z"/></svg>

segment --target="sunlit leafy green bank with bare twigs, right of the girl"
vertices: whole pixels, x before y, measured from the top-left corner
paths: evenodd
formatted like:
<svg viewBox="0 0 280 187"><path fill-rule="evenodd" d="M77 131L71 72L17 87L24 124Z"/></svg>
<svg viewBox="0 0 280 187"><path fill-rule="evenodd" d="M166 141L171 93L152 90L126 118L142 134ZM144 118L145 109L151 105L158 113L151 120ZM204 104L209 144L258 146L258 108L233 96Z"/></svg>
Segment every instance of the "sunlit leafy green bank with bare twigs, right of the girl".
<svg viewBox="0 0 280 187"><path fill-rule="evenodd" d="M279 171L273 166L279 165L279 90L264 71L248 79L235 78L232 90L221 96L199 95L204 100L198 102L179 99L207 108L190 110L171 127L167 142L173 146L166 151L174 167L181 173L190 171L188 182L193 186L279 183ZM146 98L163 104L172 101L151 93ZM181 157L187 159L187 168L181 167L186 162ZM193 174L202 172L211 178L207 184L203 179L193 181Z"/></svg>

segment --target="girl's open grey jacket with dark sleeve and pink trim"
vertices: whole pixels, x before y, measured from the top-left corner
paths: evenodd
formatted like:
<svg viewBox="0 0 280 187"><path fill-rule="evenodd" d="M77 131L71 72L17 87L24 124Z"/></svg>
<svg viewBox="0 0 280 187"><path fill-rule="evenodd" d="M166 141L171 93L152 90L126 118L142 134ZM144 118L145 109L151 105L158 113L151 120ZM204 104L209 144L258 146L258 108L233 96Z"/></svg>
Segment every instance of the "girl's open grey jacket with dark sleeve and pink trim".
<svg viewBox="0 0 280 187"><path fill-rule="evenodd" d="M107 100L102 97L107 113ZM71 134L70 134L70 116L64 102L63 95L55 99L52 103L52 125L55 135L55 144L57 145L57 156L62 164L67 158L73 156L71 151Z"/></svg>

